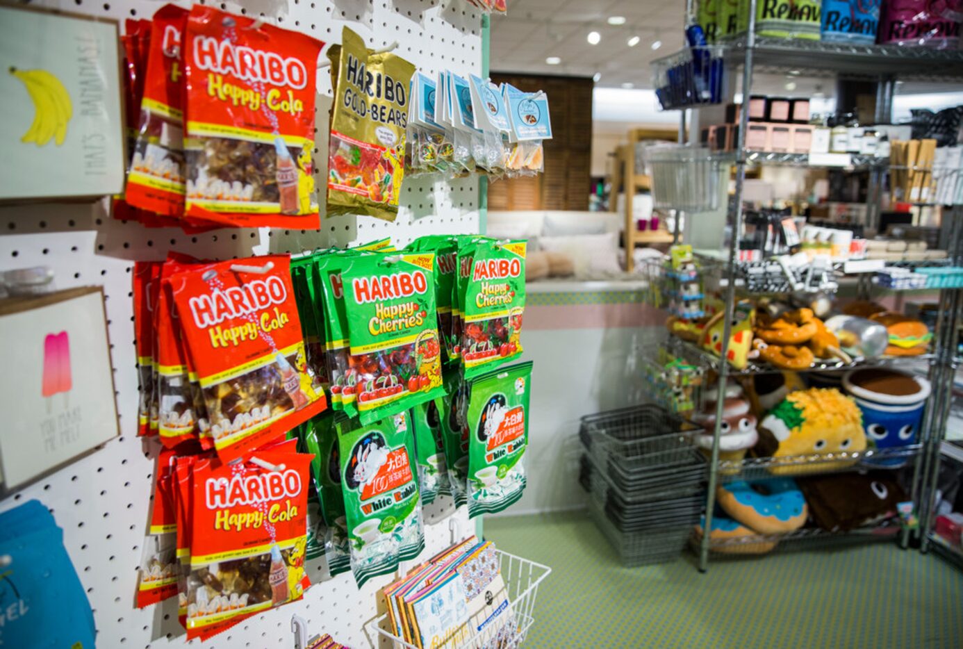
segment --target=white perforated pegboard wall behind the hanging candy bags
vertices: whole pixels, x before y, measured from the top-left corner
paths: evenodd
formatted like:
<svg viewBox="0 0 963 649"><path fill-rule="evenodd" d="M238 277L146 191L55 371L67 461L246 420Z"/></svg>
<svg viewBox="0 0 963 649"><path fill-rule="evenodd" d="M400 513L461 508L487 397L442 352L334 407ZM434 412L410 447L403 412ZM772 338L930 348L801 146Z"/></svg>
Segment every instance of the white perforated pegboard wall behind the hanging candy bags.
<svg viewBox="0 0 963 649"><path fill-rule="evenodd" d="M245 0L211 3L221 9L260 15L267 22L303 31L317 39L340 42L343 25L351 26L370 47L397 41L397 54L433 74L440 68L458 74L481 74L481 14L465 0ZM150 0L40 0L39 7L72 13L149 17L162 2ZM178 3L188 6L188 3ZM329 72L319 70L316 166L326 177ZM318 154L321 151L321 154ZM0 270L48 266L58 289L104 287L117 412L121 434L64 469L14 492L0 510L38 499L64 529L67 553L87 589L97 627L97 646L168 647L188 644L177 622L174 600L151 608L134 607L156 448L136 437L137 373L131 273L134 261L162 260L169 250L200 258L227 259L269 252L299 252L312 247L347 246L391 236L398 246L424 234L479 231L477 178L437 180L408 178L401 210L394 222L369 217L326 219L324 183L319 182L320 230L221 229L185 235L177 229L144 228L111 219L106 201L93 204L31 204L0 207ZM425 555L453 540L449 522L469 532L465 508L455 511L448 498L425 508ZM314 584L300 602L249 618L205 642L191 646L293 647L291 617L298 614L310 633L329 633L352 647L377 644L366 625L377 610L377 590L389 577L361 589L350 574L331 579L324 560L308 562Z"/></svg>

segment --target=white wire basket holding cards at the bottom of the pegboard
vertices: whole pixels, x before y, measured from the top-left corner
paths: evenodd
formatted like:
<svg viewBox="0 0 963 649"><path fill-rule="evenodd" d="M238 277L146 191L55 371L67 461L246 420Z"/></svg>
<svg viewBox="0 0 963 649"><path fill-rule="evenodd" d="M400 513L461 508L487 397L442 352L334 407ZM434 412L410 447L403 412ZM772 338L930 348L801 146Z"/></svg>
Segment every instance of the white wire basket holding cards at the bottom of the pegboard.
<svg viewBox="0 0 963 649"><path fill-rule="evenodd" d="M548 577L552 568L527 558L516 557L503 550L495 550L501 561L502 579L508 589L508 615L501 625L483 626L481 631L459 644L457 649L481 649L481 647L517 647L525 641L534 622L535 598L538 585ZM377 617L370 623L373 631L381 639L389 640L392 646L418 647L389 631L391 622L388 615Z"/></svg>

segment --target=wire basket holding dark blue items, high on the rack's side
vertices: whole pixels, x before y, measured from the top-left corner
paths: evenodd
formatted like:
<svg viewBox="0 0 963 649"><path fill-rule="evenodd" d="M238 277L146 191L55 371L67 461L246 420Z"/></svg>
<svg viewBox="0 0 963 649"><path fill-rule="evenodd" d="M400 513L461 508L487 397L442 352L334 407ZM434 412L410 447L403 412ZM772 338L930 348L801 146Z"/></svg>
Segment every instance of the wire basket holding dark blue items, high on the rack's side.
<svg viewBox="0 0 963 649"><path fill-rule="evenodd" d="M716 45L688 47L652 62L652 83L662 109L721 103L725 83L722 53Z"/></svg>

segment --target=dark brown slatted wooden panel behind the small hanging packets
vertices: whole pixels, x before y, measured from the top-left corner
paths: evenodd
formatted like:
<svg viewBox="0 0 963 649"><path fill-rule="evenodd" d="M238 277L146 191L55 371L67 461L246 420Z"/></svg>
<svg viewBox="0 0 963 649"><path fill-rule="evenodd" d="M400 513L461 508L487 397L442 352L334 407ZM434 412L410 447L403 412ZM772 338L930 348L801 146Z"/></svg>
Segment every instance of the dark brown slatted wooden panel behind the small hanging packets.
<svg viewBox="0 0 963 649"><path fill-rule="evenodd" d="M552 133L545 143L545 171L488 186L490 210L587 210L591 191L592 88L584 77L493 72L492 81L548 95Z"/></svg>

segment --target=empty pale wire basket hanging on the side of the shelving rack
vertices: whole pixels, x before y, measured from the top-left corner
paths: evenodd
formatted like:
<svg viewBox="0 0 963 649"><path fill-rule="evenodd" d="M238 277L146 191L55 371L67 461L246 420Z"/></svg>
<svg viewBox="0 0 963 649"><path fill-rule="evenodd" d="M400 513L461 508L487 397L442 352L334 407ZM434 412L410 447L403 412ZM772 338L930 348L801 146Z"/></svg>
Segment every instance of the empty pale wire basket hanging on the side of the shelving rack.
<svg viewBox="0 0 963 649"><path fill-rule="evenodd" d="M728 189L728 163L704 146L661 143L639 148L652 177L655 208L682 212L719 209Z"/></svg>

